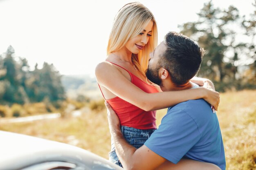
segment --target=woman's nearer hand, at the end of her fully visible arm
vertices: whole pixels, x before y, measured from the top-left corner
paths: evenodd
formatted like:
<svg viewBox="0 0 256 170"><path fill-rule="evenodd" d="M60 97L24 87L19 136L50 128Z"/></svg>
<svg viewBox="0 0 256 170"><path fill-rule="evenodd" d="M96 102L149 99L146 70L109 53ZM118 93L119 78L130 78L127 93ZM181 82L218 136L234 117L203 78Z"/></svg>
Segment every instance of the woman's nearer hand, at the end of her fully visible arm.
<svg viewBox="0 0 256 170"><path fill-rule="evenodd" d="M213 106L214 110L218 110L220 103L220 93L209 88L202 87L206 95L203 97L209 104Z"/></svg>

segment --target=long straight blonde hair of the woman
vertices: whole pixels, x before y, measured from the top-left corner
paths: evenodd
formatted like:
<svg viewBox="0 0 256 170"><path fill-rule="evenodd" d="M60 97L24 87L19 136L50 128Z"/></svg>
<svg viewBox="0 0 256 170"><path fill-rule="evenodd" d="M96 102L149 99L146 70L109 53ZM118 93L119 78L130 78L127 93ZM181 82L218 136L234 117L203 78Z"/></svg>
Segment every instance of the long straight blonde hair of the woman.
<svg viewBox="0 0 256 170"><path fill-rule="evenodd" d="M138 54L132 54L132 62L145 75L149 54L157 46L157 24L154 15L139 2L132 2L122 7L115 16L108 40L107 55L121 49L128 40L135 38L147 24L153 21L152 36Z"/></svg>

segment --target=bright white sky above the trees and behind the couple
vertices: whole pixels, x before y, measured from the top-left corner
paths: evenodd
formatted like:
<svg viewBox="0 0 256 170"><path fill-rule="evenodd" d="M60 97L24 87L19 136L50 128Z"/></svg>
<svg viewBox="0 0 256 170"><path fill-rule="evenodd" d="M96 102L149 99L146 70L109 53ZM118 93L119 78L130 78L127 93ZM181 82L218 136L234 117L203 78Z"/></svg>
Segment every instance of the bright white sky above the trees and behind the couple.
<svg viewBox="0 0 256 170"><path fill-rule="evenodd" d="M134 0L136 1L136 0ZM0 54L9 45L36 62L53 63L61 74L94 75L106 58L108 36L115 14L132 0L0 0ZM138 0L155 15L161 42L178 24L196 21L209 0ZM234 5L240 14L253 12L253 0L213 0L216 7Z"/></svg>

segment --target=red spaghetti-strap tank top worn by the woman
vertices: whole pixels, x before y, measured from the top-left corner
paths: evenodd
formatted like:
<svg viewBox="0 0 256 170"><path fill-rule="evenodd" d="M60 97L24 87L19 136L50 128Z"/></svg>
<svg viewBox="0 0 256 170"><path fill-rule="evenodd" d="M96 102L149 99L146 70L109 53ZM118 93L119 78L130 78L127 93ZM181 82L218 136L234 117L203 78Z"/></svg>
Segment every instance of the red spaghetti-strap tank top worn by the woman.
<svg viewBox="0 0 256 170"><path fill-rule="evenodd" d="M112 63L112 62L110 62ZM115 64L115 63L112 63ZM117 64L115 64L117 65ZM117 65L119 66L119 65ZM121 67L121 66L119 66ZM121 67L123 68L123 67ZM126 70L125 68L123 68ZM134 74L130 73L130 71L126 70L131 77L132 84L135 84L141 90L146 93L157 93L157 88L151 86L141 80L139 77L135 76ZM99 86L100 88L100 86ZM100 89L101 90L101 89ZM102 91L101 91L102 93ZM103 95L103 93L102 93ZM103 95L104 97L104 95ZM105 99L105 97L104 97ZM137 129L156 129L155 123L155 114L156 111L145 111L137 106L126 102L125 100L117 97L112 99L106 99L106 101L110 104L110 106L115 110L117 116L119 117L121 126L128 126Z"/></svg>

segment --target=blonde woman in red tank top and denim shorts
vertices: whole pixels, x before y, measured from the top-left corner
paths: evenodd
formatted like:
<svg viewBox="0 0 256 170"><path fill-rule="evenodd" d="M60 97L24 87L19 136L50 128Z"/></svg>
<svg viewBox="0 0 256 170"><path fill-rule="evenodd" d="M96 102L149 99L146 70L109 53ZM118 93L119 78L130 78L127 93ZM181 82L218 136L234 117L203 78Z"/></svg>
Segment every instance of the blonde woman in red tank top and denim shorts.
<svg viewBox="0 0 256 170"><path fill-rule="evenodd" d="M137 148L156 129L153 110L189 99L204 98L215 108L219 102L218 92L206 88L158 93L159 87L145 75L149 53L156 46L157 25L153 14L138 2L126 4L115 17L108 57L95 70L102 95L117 113L124 137ZM110 160L121 166L113 142Z"/></svg>

